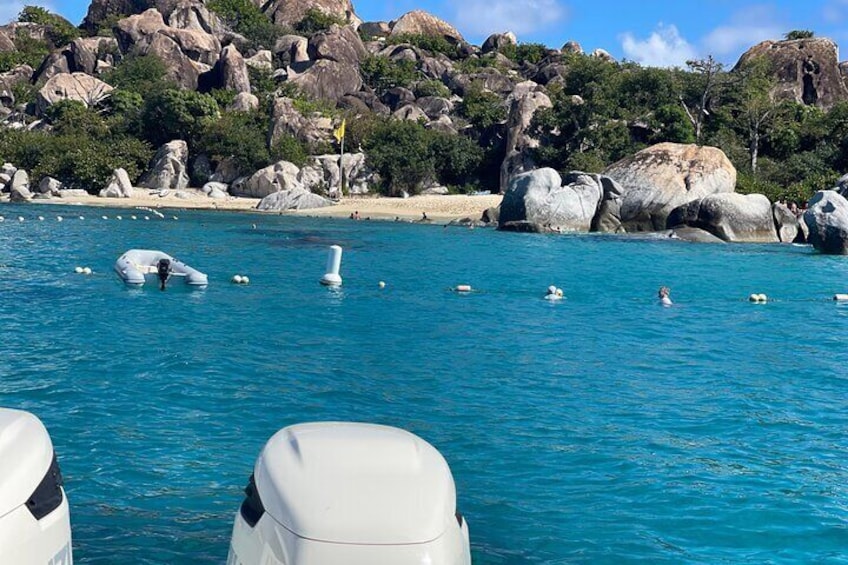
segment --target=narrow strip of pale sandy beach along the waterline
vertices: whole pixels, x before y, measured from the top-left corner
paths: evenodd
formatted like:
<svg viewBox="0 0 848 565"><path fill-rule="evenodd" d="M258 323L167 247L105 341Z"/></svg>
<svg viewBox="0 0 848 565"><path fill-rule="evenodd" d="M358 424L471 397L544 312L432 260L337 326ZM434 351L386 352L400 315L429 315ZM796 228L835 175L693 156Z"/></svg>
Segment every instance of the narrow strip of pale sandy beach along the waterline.
<svg viewBox="0 0 848 565"><path fill-rule="evenodd" d="M71 198L51 198L32 200L34 204L67 205L67 206L102 206L107 208L139 208L153 209L198 209L198 210L230 210L244 211L255 214L280 214L281 212L261 212L256 210L257 198L235 198L226 200L213 199L199 190L180 191L181 197L175 191L166 196L136 190L131 198L100 198L98 196L74 196ZM445 196L412 196L409 198L385 198L379 196L355 196L342 199L335 206L282 212L311 217L348 218L354 212L359 212L361 219L373 220L420 220L423 214L433 221L450 221L461 218L479 220L483 210L498 206L503 197L497 194L484 195L445 195ZM6 200L8 202L8 200Z"/></svg>

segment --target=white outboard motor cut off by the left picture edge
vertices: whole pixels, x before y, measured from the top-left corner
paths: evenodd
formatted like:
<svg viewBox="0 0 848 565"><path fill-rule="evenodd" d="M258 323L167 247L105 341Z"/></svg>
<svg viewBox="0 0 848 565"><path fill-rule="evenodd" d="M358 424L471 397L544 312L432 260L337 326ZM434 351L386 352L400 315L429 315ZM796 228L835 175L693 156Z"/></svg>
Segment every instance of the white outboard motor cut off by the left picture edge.
<svg viewBox="0 0 848 565"><path fill-rule="evenodd" d="M41 420L0 408L0 563L71 565L71 520Z"/></svg>

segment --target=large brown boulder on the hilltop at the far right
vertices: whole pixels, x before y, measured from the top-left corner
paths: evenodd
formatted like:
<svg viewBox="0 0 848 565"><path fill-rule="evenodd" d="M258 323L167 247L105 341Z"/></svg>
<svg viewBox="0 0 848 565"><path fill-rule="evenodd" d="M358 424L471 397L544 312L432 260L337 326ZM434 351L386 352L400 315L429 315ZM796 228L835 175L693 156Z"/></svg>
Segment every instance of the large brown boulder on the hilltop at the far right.
<svg viewBox="0 0 848 565"><path fill-rule="evenodd" d="M825 37L786 41L763 41L746 51L736 69L764 58L775 69L775 94L799 104L830 108L840 100L848 100L848 89L839 69L839 51Z"/></svg>

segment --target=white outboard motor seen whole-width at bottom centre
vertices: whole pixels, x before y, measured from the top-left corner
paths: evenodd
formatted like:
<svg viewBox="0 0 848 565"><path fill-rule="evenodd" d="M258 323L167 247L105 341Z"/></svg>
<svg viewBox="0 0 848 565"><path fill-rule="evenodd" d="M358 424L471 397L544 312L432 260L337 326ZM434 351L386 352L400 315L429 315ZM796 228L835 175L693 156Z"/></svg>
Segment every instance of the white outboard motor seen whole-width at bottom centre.
<svg viewBox="0 0 848 565"><path fill-rule="evenodd" d="M471 564L447 462L398 428L283 428L259 454L245 493L228 565Z"/></svg>

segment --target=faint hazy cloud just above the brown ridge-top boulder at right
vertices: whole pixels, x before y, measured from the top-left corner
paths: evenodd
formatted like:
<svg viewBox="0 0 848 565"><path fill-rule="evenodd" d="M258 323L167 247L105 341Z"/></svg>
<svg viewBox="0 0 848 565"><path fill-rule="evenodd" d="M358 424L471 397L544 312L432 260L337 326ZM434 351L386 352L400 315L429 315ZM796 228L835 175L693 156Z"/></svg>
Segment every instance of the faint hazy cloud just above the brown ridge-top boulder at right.
<svg viewBox="0 0 848 565"><path fill-rule="evenodd" d="M704 37L705 50L718 58L740 55L743 50L766 39L782 39L782 26L769 6L752 6L734 14L730 23Z"/></svg>

